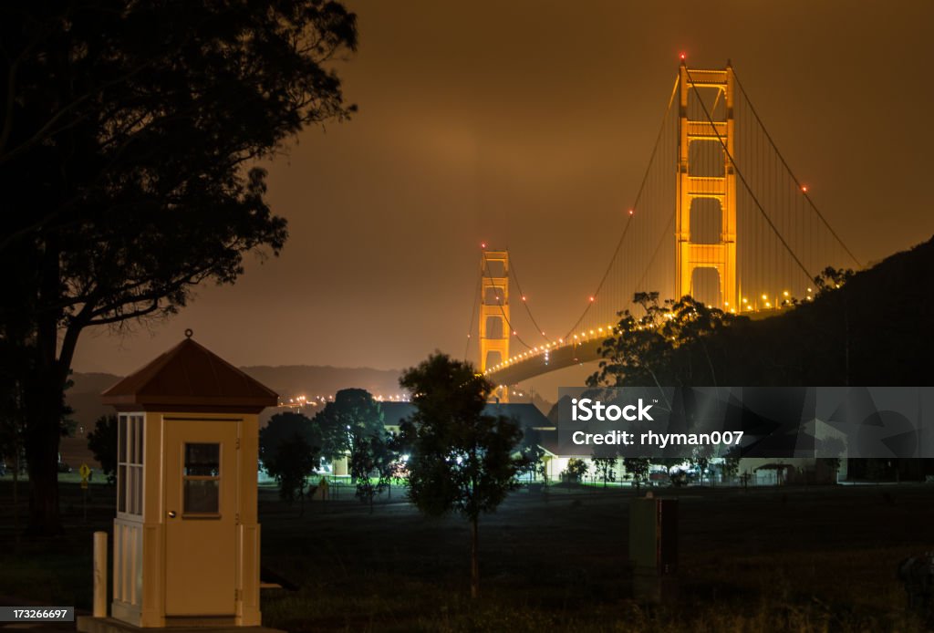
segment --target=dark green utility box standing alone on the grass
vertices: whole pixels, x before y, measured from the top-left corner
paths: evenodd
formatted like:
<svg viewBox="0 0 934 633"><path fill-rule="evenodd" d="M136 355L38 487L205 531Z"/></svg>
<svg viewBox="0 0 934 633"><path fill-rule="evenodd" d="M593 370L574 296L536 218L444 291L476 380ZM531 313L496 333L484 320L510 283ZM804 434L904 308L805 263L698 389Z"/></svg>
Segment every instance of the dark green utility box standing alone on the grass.
<svg viewBox="0 0 934 633"><path fill-rule="evenodd" d="M649 493L651 494L651 493ZM676 594L678 499L630 499L630 564L637 599L667 601Z"/></svg>

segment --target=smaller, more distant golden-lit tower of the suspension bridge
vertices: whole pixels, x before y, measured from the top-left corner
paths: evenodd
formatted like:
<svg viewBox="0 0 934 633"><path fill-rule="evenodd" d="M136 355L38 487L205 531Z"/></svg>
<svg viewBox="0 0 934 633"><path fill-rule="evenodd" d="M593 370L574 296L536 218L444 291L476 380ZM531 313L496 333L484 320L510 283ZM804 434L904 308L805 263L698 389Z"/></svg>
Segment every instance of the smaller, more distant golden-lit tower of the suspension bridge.
<svg viewBox="0 0 934 633"><path fill-rule="evenodd" d="M480 277L480 373L484 373L491 352L499 355L500 362L509 358L509 251L485 250ZM501 402L509 400L508 394L508 388L499 387L493 393Z"/></svg>

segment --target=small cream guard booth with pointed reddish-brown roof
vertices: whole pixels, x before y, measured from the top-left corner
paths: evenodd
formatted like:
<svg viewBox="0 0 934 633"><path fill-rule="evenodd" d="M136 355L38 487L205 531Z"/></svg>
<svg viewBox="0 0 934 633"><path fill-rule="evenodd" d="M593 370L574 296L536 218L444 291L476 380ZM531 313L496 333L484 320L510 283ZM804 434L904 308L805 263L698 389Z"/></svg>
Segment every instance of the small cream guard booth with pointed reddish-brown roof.
<svg viewBox="0 0 934 633"><path fill-rule="evenodd" d="M278 396L185 334L103 394L119 413L111 616L260 626L258 414Z"/></svg>

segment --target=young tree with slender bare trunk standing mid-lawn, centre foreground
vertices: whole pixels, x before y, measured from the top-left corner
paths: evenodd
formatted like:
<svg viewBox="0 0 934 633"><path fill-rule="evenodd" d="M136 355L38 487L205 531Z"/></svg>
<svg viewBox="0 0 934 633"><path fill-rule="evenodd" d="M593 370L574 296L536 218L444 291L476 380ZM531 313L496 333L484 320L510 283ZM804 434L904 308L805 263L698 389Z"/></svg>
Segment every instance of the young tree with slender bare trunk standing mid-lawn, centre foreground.
<svg viewBox="0 0 934 633"><path fill-rule="evenodd" d="M517 488L522 437L503 415L484 415L493 385L467 362L436 352L399 381L416 413L403 421L408 495L427 514L460 513L471 527L471 597L480 591L477 523Z"/></svg>

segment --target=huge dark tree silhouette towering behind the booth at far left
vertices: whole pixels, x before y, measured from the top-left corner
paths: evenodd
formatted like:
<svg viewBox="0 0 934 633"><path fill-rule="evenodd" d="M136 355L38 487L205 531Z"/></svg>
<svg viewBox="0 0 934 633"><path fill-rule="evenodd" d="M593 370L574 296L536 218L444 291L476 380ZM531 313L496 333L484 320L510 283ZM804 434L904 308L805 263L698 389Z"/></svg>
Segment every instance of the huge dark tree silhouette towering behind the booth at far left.
<svg viewBox="0 0 934 633"><path fill-rule="evenodd" d="M174 314L277 254L270 158L347 118L327 69L356 48L337 2L71 0L0 14L0 340L17 369L30 531L58 533L63 389L85 328Z"/></svg>

